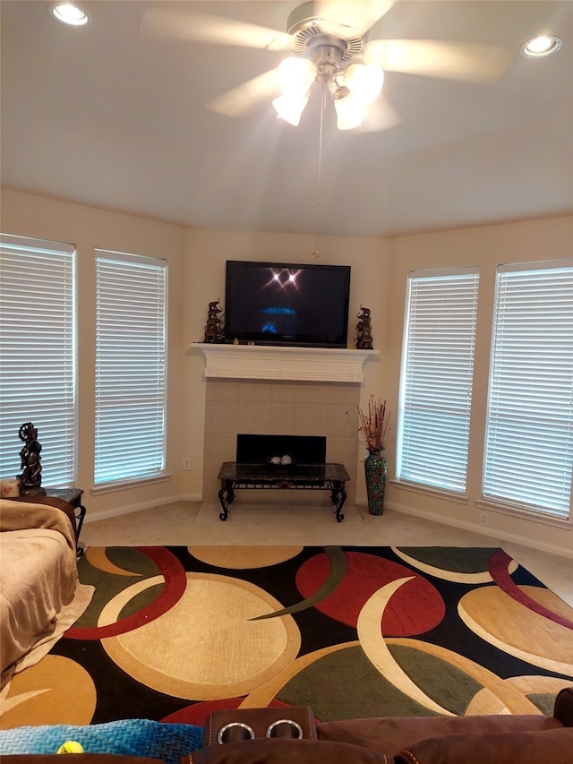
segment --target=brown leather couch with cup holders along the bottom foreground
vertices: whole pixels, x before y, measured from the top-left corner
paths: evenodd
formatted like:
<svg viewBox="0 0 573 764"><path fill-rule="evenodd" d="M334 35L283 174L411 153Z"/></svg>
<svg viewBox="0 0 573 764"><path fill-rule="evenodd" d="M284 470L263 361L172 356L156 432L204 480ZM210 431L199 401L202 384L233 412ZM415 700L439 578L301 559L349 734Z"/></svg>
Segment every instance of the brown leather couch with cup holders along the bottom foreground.
<svg viewBox="0 0 573 764"><path fill-rule="evenodd" d="M229 712L226 712L229 713ZM560 691L552 717L386 717L304 725L304 738L259 737L269 716L288 708L242 709L253 740L206 743L181 764L572 764L573 687ZM261 724L262 723L262 724ZM213 732L214 734L211 734ZM74 754L75 764L150 764L157 760ZM57 761L57 760L56 760ZM56 764L53 756L4 756L3 764Z"/></svg>

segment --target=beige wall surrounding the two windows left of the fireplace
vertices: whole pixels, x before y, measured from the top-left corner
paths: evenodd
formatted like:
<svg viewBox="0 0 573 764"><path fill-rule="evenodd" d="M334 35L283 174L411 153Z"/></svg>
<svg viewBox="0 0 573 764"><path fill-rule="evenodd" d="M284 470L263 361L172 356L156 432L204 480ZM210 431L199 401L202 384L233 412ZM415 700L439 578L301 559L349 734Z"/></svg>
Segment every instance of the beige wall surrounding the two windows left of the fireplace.
<svg viewBox="0 0 573 764"><path fill-rule="evenodd" d="M115 513L118 508L153 506L164 500L176 500L181 494L180 456L184 425L180 416L180 402L183 398L183 229L130 215L3 190L2 231L14 236L68 242L77 247L77 341L80 351L77 485L84 489L84 502L90 517L100 513L102 516ZM168 262L167 472L172 477L163 483L91 495L95 395L95 248L161 257ZM30 295L30 304L33 305L33 295ZM41 442L41 426L39 430Z"/></svg>

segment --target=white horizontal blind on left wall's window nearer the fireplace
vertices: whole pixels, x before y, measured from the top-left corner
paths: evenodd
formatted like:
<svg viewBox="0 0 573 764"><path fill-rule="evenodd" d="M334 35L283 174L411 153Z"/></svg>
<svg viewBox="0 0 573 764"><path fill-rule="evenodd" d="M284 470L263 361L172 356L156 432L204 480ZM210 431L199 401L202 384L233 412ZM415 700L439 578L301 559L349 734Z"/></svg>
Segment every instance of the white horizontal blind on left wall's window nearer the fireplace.
<svg viewBox="0 0 573 764"><path fill-rule="evenodd" d="M158 476L166 451L167 263L96 253L95 484Z"/></svg>

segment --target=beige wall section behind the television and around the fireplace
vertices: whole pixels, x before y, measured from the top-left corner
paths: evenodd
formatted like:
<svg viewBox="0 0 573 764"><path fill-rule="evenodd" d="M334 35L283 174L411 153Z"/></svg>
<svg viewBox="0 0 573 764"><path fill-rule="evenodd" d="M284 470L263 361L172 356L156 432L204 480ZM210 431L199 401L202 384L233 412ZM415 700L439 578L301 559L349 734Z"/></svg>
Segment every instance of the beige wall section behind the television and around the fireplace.
<svg viewBox="0 0 573 764"><path fill-rule="evenodd" d="M188 229L185 232L184 273L184 336L186 365L184 386L188 397L184 401L184 449L192 459L192 472L185 474L184 488L188 496L201 494L203 464L203 434L205 421L206 383L203 379L204 359L200 348L189 348L203 339L207 305L220 298L225 301L225 262L227 260L266 260L269 262L316 262L318 264L350 265L350 310L348 336L352 342L356 314L360 305L372 310L374 348L380 356L369 358L364 366L365 382L361 399L370 393L381 395L385 389L384 369L386 345L386 316L389 305L389 271L392 243L375 238L345 238L322 236L321 256L311 256L314 236L295 234L245 233ZM354 347L351 346L350 347ZM356 460L363 451L356 441ZM354 471L354 470L353 470ZM359 501L365 495L362 482L356 482ZM207 497L206 497L207 498Z"/></svg>

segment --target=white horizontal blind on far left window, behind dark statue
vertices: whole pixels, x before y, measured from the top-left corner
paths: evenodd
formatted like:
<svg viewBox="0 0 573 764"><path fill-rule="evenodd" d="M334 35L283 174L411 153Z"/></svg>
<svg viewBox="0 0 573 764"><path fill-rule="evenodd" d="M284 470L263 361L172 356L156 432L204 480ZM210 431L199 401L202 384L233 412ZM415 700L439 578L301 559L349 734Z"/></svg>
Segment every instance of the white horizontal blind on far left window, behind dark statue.
<svg viewBox="0 0 573 764"><path fill-rule="evenodd" d="M75 477L75 250L0 237L0 476L21 474L19 438L38 429L42 485Z"/></svg>

